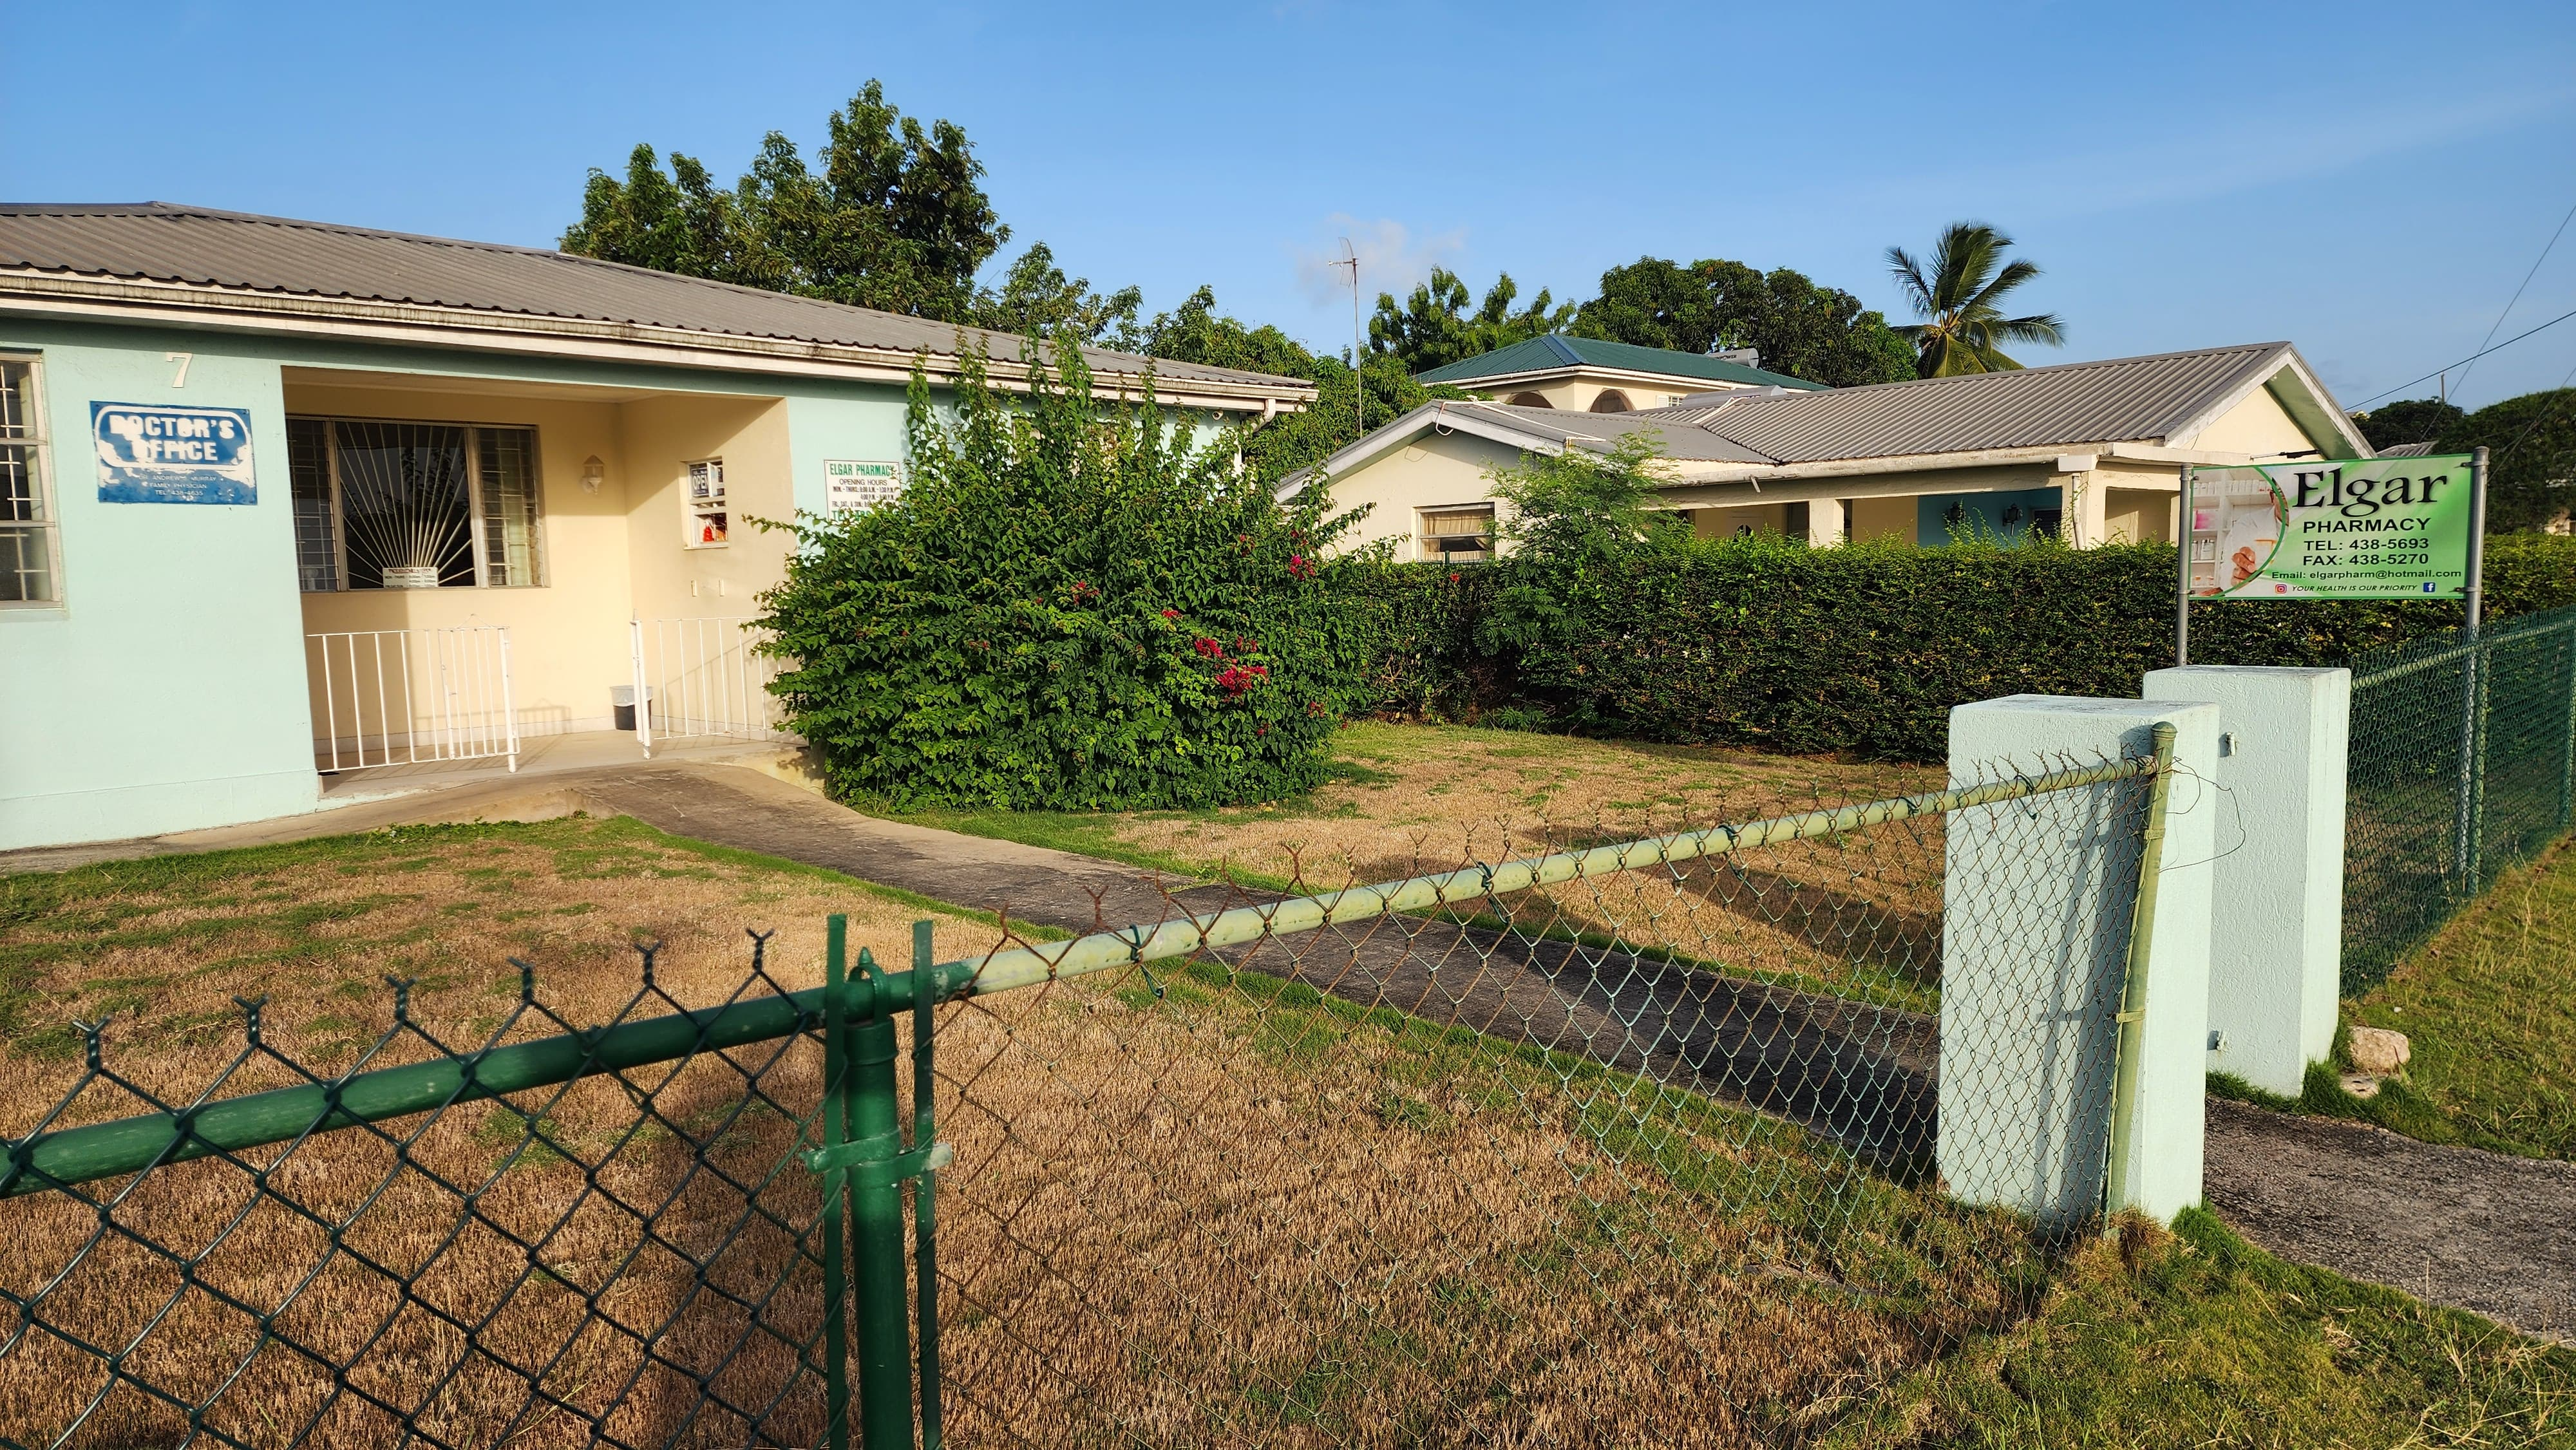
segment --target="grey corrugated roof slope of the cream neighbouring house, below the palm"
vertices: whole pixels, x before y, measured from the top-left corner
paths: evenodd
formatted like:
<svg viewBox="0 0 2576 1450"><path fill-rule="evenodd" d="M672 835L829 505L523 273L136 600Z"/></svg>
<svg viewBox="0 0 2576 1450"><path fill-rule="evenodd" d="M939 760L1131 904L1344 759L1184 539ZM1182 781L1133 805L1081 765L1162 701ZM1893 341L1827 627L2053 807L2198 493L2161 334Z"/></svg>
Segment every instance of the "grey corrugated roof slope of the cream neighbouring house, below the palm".
<svg viewBox="0 0 2576 1450"><path fill-rule="evenodd" d="M1747 397L1649 410L1667 438L1716 433L1775 464L1981 448L2164 443L2221 399L2277 373L2287 343L2202 348L2009 373ZM1680 451L1674 456L1682 456Z"/></svg>

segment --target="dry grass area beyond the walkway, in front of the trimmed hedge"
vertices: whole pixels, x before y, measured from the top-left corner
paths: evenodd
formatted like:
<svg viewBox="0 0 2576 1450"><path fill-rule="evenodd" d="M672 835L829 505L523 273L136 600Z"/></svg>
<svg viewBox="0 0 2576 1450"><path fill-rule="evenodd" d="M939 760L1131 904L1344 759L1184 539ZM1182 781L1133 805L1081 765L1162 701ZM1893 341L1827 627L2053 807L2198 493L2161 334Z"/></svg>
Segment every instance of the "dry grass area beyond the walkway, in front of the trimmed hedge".
<svg viewBox="0 0 2576 1450"><path fill-rule="evenodd" d="M1126 855L1296 891L1741 824L1945 783L1940 767L1358 724L1342 780L1288 806L1133 814L925 814L927 824ZM1940 976L1942 819L1775 845L1522 894L1522 930L1620 937L1734 976L1929 1007Z"/></svg>

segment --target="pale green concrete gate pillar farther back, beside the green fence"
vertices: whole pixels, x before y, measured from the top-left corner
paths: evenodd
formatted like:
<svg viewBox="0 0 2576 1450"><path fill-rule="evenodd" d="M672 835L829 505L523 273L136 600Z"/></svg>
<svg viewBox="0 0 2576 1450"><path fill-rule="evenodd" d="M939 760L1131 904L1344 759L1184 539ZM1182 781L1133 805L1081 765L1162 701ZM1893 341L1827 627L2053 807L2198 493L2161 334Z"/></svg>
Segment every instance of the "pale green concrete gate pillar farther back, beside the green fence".
<svg viewBox="0 0 2576 1450"><path fill-rule="evenodd" d="M2208 1069L2298 1097L2334 1051L2352 672L2192 664L2146 698L2218 706Z"/></svg>

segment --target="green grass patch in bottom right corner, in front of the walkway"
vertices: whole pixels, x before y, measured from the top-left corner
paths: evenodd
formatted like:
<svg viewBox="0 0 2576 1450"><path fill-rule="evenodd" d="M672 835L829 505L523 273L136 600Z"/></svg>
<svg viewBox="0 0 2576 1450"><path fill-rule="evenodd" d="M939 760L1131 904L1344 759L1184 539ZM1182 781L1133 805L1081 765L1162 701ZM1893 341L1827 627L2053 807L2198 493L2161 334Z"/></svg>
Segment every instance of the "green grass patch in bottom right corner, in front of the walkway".
<svg viewBox="0 0 2576 1450"><path fill-rule="evenodd" d="M2012 1332L1940 1360L1832 1450L2576 1445L2576 1350L2298 1267L2190 1210L2079 1257Z"/></svg>

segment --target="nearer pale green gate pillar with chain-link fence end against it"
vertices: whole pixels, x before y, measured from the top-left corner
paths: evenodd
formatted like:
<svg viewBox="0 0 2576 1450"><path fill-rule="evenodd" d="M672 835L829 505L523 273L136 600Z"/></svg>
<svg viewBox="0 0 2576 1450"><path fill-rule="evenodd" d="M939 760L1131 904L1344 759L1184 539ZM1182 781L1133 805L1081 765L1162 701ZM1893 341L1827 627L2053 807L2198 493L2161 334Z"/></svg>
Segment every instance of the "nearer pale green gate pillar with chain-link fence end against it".
<svg viewBox="0 0 2576 1450"><path fill-rule="evenodd" d="M2009 695L1950 711L1950 780L2043 775L2154 752L2174 726L2164 873L2146 961L2128 1203L2200 1203L2210 968L2205 783L2218 706ZM2074 1226L2102 1208L2146 786L1953 811L1945 824L1940 1172L1953 1198Z"/></svg>

